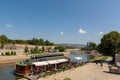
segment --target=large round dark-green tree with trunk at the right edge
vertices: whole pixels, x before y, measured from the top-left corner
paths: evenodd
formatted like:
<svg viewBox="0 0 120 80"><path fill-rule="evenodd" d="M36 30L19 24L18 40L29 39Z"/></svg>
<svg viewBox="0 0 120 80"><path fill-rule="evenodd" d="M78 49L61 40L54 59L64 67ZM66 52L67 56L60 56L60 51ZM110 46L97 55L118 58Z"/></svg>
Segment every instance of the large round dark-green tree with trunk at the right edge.
<svg viewBox="0 0 120 80"><path fill-rule="evenodd" d="M104 55L111 55L112 62L115 62L115 54L120 52L120 33L112 31L105 34L98 46L98 51Z"/></svg>

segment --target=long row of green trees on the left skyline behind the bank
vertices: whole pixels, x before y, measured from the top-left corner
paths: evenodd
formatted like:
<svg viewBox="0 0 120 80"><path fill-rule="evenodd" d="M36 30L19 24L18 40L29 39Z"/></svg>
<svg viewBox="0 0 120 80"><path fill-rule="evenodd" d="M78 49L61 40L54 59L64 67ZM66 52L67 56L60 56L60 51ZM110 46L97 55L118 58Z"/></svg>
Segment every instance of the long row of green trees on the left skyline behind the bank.
<svg viewBox="0 0 120 80"><path fill-rule="evenodd" d="M0 35L0 48L3 49L5 44L31 44L31 45L40 45L40 46L53 46L54 43L42 38L32 38L29 40L22 39L9 39L6 35Z"/></svg>

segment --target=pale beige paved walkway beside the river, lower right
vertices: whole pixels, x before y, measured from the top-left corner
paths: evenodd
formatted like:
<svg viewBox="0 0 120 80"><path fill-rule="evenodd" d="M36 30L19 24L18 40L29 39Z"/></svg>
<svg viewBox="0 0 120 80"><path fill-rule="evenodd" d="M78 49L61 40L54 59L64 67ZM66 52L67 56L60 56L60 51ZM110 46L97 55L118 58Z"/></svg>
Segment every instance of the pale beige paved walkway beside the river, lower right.
<svg viewBox="0 0 120 80"><path fill-rule="evenodd" d="M74 68L39 80L63 80L66 77L72 80L120 80L120 75L108 73L108 64L88 63L82 67Z"/></svg>

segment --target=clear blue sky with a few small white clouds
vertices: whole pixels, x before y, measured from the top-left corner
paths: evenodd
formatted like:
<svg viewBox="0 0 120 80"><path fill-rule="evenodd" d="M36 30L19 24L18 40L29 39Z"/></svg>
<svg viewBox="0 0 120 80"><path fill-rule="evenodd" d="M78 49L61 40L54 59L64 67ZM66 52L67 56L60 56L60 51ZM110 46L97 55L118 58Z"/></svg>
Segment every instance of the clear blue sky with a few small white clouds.
<svg viewBox="0 0 120 80"><path fill-rule="evenodd" d="M54 43L100 42L120 32L120 0L0 0L0 34Z"/></svg>

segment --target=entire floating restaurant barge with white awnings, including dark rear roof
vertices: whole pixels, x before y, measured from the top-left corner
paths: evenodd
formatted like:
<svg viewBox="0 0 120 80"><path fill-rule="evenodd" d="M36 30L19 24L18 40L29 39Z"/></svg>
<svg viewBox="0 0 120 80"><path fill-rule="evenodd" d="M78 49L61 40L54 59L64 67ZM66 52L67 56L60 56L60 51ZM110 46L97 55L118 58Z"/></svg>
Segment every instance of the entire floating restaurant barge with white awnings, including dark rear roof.
<svg viewBox="0 0 120 80"><path fill-rule="evenodd" d="M37 75L42 72L62 68L68 63L69 59L61 53L32 56L31 59L16 63L15 74L24 77Z"/></svg>

